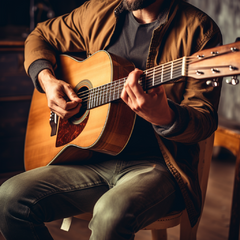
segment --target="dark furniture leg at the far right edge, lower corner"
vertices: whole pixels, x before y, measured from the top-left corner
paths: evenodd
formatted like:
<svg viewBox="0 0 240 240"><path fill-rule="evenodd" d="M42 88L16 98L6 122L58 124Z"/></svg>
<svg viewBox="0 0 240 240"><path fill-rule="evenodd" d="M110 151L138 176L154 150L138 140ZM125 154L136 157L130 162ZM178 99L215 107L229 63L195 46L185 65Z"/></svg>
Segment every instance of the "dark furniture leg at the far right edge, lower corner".
<svg viewBox="0 0 240 240"><path fill-rule="evenodd" d="M229 227L229 240L238 240L240 223L240 151L237 154L235 179L232 198L232 210Z"/></svg>

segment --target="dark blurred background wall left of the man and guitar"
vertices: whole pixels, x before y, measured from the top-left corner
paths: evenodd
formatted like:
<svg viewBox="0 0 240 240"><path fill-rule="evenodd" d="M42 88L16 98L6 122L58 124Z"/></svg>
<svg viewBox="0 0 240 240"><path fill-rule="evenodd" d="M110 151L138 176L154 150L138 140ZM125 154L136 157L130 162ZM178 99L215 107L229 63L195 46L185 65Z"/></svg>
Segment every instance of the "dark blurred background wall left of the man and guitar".
<svg viewBox="0 0 240 240"><path fill-rule="evenodd" d="M38 22L85 0L0 0L0 174L24 170L24 139L33 84L23 68L23 44Z"/></svg>

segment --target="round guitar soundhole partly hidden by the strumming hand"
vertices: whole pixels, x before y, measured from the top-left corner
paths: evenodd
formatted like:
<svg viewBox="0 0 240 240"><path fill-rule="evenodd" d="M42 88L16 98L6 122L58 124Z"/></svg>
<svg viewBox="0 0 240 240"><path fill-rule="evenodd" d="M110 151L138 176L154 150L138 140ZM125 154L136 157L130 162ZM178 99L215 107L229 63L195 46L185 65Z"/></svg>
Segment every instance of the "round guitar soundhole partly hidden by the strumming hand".
<svg viewBox="0 0 240 240"><path fill-rule="evenodd" d="M88 102L87 100L89 96L88 87L83 86L80 89L78 89L76 93L79 96L79 98L82 99L82 106L80 108L79 113L77 113L76 115L74 115L72 118L69 119L73 124L81 123L89 113L89 110L87 109L87 102Z"/></svg>

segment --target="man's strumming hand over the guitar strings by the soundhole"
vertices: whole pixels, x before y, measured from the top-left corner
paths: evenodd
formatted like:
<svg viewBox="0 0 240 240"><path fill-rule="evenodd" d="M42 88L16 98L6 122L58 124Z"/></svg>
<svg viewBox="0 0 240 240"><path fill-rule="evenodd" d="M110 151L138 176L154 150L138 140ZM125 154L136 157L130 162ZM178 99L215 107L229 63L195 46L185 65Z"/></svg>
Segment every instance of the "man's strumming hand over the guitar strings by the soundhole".
<svg viewBox="0 0 240 240"><path fill-rule="evenodd" d="M58 80L49 69L38 74L38 81L46 93L48 107L59 117L68 119L79 112L82 100L68 83Z"/></svg>

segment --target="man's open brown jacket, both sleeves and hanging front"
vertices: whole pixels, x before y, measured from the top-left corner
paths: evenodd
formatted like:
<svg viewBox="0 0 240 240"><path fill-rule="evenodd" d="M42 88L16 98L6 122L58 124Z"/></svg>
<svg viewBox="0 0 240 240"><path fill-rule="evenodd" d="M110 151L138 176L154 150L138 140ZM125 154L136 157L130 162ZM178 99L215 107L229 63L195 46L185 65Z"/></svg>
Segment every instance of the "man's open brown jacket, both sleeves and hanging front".
<svg viewBox="0 0 240 240"><path fill-rule="evenodd" d="M26 72L38 59L47 59L55 66L57 52L85 51L91 55L105 49L122 11L121 0L91 0L70 14L39 24L26 40ZM189 56L221 44L221 41L218 27L206 14L184 1L173 0L166 22L153 33L146 67ZM167 97L187 111L190 120L187 127L174 136L156 136L166 164L179 183L192 226L197 222L201 209L198 142L209 137L217 128L220 89L191 78L165 85ZM188 184L174 168L163 143L188 176Z"/></svg>

